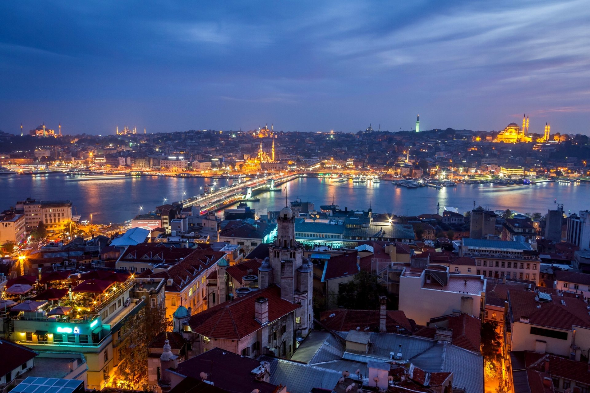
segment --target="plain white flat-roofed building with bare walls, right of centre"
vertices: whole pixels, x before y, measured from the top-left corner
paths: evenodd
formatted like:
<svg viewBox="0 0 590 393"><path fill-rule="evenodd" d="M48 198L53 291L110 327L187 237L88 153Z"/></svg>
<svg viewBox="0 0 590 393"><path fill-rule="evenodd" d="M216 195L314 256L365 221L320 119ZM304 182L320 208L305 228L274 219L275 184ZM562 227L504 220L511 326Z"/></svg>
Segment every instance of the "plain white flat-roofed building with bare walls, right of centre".
<svg viewBox="0 0 590 393"><path fill-rule="evenodd" d="M486 297L482 276L450 274L443 265L407 266L399 277L399 309L420 325L454 310L481 319Z"/></svg>

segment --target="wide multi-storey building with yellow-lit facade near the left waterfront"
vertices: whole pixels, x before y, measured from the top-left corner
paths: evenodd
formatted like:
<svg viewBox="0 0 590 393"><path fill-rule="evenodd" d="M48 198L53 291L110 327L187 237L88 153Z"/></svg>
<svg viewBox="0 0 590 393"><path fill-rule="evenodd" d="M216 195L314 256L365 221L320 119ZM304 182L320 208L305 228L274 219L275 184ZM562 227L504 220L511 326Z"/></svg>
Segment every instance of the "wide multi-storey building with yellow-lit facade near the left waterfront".
<svg viewBox="0 0 590 393"><path fill-rule="evenodd" d="M61 231L67 223L76 221L80 216L72 216L72 203L68 200L35 200L27 198L17 202L17 211L25 214L27 230L35 229L43 223L49 231Z"/></svg>

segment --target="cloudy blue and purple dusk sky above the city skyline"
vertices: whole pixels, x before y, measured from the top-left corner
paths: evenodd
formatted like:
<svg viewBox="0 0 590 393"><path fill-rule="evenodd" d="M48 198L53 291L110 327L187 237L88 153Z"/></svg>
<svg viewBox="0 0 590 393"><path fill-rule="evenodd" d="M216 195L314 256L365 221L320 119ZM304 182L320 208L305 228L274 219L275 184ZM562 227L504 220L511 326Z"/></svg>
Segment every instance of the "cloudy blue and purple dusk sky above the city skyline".
<svg viewBox="0 0 590 393"><path fill-rule="evenodd" d="M590 134L573 1L3 1L0 130Z"/></svg>

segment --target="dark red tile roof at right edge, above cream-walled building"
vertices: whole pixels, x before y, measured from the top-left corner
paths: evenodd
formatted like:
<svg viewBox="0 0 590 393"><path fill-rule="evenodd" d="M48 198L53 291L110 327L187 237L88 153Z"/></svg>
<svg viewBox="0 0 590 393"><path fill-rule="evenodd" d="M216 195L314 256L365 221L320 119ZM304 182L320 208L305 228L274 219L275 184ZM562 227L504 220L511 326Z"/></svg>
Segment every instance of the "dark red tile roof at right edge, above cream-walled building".
<svg viewBox="0 0 590 393"><path fill-rule="evenodd" d="M533 325L555 329L571 331L573 325L590 328L590 316L583 299L551 295L552 300L537 302L537 292L517 289L509 289L508 292L515 322L525 318Z"/></svg>

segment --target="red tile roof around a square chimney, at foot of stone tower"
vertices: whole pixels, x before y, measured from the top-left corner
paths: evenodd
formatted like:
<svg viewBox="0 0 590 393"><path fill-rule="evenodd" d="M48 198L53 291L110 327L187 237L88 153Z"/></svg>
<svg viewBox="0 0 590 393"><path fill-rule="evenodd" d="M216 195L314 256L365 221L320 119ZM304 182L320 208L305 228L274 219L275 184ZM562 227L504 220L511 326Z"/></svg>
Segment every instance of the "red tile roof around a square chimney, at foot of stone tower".
<svg viewBox="0 0 590 393"><path fill-rule="evenodd" d="M271 285L199 312L189 319L189 325L192 331L210 338L239 340L261 328L254 319L254 303L260 297L268 299L268 322L276 321L301 307L282 299L281 289Z"/></svg>

